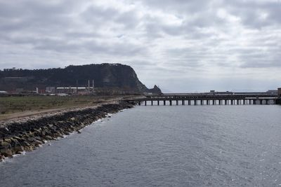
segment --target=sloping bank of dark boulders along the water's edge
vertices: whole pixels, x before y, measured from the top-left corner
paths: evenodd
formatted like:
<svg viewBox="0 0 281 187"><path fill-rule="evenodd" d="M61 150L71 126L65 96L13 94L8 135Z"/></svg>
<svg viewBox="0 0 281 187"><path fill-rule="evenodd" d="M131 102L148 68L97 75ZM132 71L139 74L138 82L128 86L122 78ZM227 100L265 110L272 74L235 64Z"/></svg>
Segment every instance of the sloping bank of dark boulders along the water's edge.
<svg viewBox="0 0 281 187"><path fill-rule="evenodd" d="M133 104L103 104L95 108L67 111L35 120L15 122L0 127L0 162L22 151L32 151L46 141L55 140L77 131L94 121L105 118L107 113L130 109Z"/></svg>

